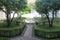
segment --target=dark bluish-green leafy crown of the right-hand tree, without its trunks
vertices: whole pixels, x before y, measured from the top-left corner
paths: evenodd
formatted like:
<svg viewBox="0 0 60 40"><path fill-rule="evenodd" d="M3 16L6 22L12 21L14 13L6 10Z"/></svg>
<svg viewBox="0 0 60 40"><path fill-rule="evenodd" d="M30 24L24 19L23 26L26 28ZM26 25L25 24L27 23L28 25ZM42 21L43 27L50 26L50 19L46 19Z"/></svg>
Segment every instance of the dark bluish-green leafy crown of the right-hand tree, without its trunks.
<svg viewBox="0 0 60 40"><path fill-rule="evenodd" d="M36 1L36 10L39 13L49 12L50 10L59 10L60 9L60 0L37 0Z"/></svg>

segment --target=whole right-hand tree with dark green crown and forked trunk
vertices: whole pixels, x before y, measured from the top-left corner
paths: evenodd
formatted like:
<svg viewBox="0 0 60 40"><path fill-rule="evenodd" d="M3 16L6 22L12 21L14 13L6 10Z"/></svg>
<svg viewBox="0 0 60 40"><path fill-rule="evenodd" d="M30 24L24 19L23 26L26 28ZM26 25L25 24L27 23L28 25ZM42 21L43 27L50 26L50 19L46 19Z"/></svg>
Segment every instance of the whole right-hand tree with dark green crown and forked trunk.
<svg viewBox="0 0 60 40"><path fill-rule="evenodd" d="M36 0L37 12L45 14L48 19L49 27L53 27L54 15L60 9L60 0ZM49 17L49 12L52 11L52 18Z"/></svg>

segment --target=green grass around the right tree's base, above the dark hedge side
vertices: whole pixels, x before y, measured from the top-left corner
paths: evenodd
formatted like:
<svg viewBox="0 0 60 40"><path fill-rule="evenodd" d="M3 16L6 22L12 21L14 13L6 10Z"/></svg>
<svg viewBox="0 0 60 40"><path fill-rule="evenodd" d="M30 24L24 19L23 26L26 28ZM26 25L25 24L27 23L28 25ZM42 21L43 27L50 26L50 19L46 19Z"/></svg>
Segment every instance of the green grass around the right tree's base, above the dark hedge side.
<svg viewBox="0 0 60 40"><path fill-rule="evenodd" d="M47 31L47 32L53 32L53 31L60 31L60 24L54 24L54 26L51 28L51 27L48 27L48 25L44 25L44 26L40 26L38 27L37 25L34 25L35 29L36 30L44 30L44 31Z"/></svg>

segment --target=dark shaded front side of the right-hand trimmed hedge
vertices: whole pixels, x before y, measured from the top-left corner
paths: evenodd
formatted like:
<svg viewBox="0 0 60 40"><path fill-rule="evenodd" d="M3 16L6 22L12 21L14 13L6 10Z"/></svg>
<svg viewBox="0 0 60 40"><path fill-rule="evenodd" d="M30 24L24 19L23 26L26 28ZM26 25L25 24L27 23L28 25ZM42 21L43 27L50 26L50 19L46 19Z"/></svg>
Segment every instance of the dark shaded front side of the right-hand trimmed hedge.
<svg viewBox="0 0 60 40"><path fill-rule="evenodd" d="M44 37L44 38L59 38L60 31L46 32L46 31L42 31L42 30L35 30L35 35L37 35L39 37Z"/></svg>

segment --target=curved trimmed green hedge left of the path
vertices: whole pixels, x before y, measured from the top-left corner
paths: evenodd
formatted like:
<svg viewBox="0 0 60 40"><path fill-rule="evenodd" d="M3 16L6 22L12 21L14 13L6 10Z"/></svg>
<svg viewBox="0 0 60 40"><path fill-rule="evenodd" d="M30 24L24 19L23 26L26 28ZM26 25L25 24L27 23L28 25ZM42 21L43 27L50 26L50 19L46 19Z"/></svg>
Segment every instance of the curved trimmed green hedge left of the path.
<svg viewBox="0 0 60 40"><path fill-rule="evenodd" d="M17 36L22 33L24 25L15 25L15 27L10 28L0 28L0 37L12 37Z"/></svg>

